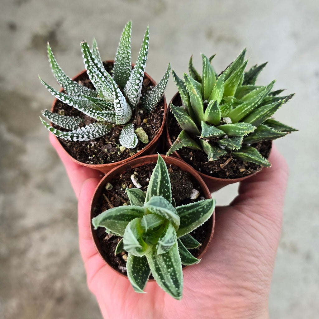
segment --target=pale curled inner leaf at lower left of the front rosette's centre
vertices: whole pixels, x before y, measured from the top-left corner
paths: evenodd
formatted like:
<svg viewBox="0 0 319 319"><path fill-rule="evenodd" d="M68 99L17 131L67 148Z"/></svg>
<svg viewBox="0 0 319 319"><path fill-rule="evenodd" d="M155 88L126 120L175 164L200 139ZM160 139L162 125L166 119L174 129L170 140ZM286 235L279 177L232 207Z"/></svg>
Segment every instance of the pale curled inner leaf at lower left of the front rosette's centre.
<svg viewBox="0 0 319 319"><path fill-rule="evenodd" d="M123 234L123 247L128 253L138 257L144 256L148 245L142 234L141 218L135 218L127 224Z"/></svg>

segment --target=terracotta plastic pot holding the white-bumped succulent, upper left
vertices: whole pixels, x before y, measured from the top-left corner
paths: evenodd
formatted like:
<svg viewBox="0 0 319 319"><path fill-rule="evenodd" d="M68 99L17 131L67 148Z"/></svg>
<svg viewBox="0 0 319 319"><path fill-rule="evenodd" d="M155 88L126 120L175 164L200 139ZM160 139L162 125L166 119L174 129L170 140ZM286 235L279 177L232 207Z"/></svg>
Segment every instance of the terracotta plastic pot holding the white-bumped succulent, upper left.
<svg viewBox="0 0 319 319"><path fill-rule="evenodd" d="M109 61L105 61L105 63L109 63L109 64L113 64L114 61L112 60L109 60ZM132 67L134 66L134 64L132 64ZM78 75L76 75L74 78L72 78L73 81L78 81L80 78L82 78L83 74L86 73L86 70L83 70L82 72L80 72ZM152 83L152 85L156 85L156 82L147 74L147 73L144 73L144 78L150 80L150 82ZM60 92L63 91L63 88L60 90ZM127 159L123 159L119 162L114 162L114 163L106 163L106 164L87 164L87 163L83 163L83 162L80 162L78 161L77 159L73 158L63 147L63 145L61 144L60 140L55 136L55 138L58 140L59 144L61 145L61 147L63 148L64 152L66 154L68 154L68 156L74 161L76 162L77 164L79 165L82 165L82 166L86 166L86 167L90 167L90 168L93 168L93 169L97 169L103 173L108 173L110 170L112 170L113 168L117 167L118 165L121 165L123 163L126 163L128 161L130 161L131 159L134 159L136 157L140 157L140 156L143 156L143 155L148 155L148 154L152 154L155 152L155 149L157 146L159 145L162 145L162 142L161 142L161 139L162 139L162 135L163 135L163 130L164 130L164 124L166 122L166 115L167 115L167 103L166 103L166 98L165 98L165 95L163 95L163 99L164 99L164 112L163 112L163 121L162 121L162 124L159 128L159 131L158 133L156 134L156 136L147 144L145 145L145 147L140 150L139 152L135 153L134 155L128 157ZM56 106L56 102L58 100L55 99L53 101L53 104L52 104L52 108L51 108L51 111L54 112L55 110L55 106Z"/></svg>

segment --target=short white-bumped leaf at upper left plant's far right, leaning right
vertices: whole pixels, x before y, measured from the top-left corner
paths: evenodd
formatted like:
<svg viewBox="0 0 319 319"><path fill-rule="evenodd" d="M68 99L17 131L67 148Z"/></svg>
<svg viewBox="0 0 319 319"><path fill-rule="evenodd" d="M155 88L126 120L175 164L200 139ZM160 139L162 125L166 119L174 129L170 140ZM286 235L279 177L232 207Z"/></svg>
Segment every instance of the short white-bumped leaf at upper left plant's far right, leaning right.
<svg viewBox="0 0 319 319"><path fill-rule="evenodd" d="M170 71L171 64L169 63L164 76L159 81L159 84L155 85L152 90L150 90L145 96L142 97L142 108L145 109L147 112L151 112L159 103L159 100L162 98L167 86Z"/></svg>

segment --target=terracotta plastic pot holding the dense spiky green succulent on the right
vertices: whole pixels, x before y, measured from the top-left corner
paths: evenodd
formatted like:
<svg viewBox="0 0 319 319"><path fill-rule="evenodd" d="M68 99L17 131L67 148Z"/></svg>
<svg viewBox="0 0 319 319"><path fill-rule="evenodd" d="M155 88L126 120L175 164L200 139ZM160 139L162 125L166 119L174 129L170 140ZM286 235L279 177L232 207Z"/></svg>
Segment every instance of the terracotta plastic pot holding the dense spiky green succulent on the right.
<svg viewBox="0 0 319 319"><path fill-rule="evenodd" d="M175 106L182 106L180 94L178 92L174 95L174 97L170 101L169 105L171 103L173 103L173 105L175 105ZM166 123L166 125L165 125L165 134L166 134L166 147L167 147L167 150L168 150L172 146L172 144L174 142L174 141L172 142L172 139L171 139L171 137L169 135L168 123ZM178 152L173 152L172 155L170 155L170 156L175 156L175 157L183 160L182 157L178 154ZM210 190L210 192L215 192L215 191L223 188L226 185L234 184L234 183L237 183L237 182L241 182L242 180L257 174L261 170L262 170L262 168L260 168L259 170L256 170L252 174L249 174L249 175L246 175L246 176L243 176L243 177L240 177L240 178L219 178L219 177L213 177L213 176L210 176L210 175L206 175L206 174L203 174L203 173L198 172L198 171L197 171L197 173L202 177L202 179L204 180L204 182L208 186L208 189Z"/></svg>

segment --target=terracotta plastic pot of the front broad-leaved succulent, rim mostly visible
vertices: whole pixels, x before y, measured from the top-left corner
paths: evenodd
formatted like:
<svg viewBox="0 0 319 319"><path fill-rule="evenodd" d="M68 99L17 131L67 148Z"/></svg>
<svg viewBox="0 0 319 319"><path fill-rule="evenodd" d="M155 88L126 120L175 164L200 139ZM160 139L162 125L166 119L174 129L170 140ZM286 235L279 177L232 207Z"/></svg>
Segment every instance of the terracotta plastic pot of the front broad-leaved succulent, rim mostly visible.
<svg viewBox="0 0 319 319"><path fill-rule="evenodd" d="M167 165L172 164L173 166L179 167L181 170L189 173L189 177L191 180L195 181L199 184L199 186L201 187L201 189L203 190L204 196L206 199L211 198L211 193L209 191L209 189L207 188L206 184L204 183L203 179L199 176L199 174L188 164L186 164L184 161L177 159L175 157L165 157L165 155L161 155L163 157L163 159L165 160ZM102 253L102 249L101 249L101 245L97 236L97 231L94 230L94 227L92 225L92 218L94 217L94 208L97 207L99 200L102 196L102 191L103 189L105 189L105 185L114 180L117 179L119 177L119 175L123 174L126 172L127 169L131 169L131 168L136 168L136 167L141 167L150 163L154 163L156 164L157 162L157 155L147 155L147 156L143 156L137 159L132 159L129 163L124 163L119 167L116 167L114 169L112 169L109 173L107 173L103 179L100 181L99 185L97 186L93 199L92 199L92 203L91 203L91 214L90 214L90 223L91 223L91 234L92 234L92 238L95 244L95 248L98 251L99 255L102 257L102 259L104 259L104 261L117 273L119 273L120 275L127 277L126 275L123 275L118 269L114 268L108 261L108 257L105 256ZM210 219L208 219L206 221L206 223L208 223L208 232L207 232L207 236L204 240L204 242L202 242L201 248L197 251L195 257L196 258L201 258L204 253L206 252L208 245L211 241L211 238L213 236L213 232L214 232L214 226L215 226L215 211L213 212L212 216ZM185 266L183 267L183 269L185 268ZM153 279L151 279L153 280Z"/></svg>

